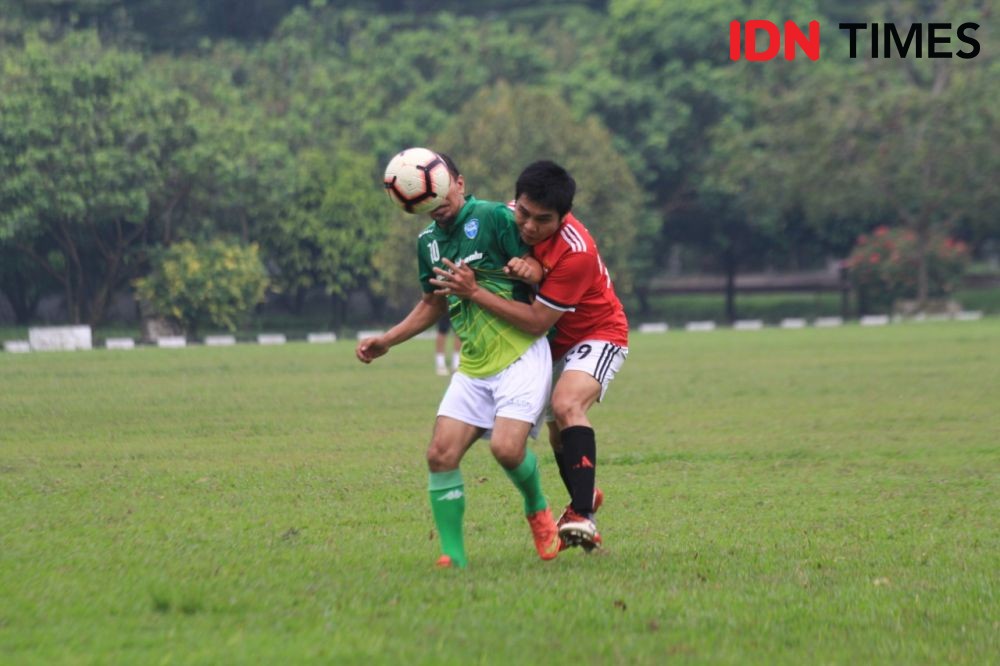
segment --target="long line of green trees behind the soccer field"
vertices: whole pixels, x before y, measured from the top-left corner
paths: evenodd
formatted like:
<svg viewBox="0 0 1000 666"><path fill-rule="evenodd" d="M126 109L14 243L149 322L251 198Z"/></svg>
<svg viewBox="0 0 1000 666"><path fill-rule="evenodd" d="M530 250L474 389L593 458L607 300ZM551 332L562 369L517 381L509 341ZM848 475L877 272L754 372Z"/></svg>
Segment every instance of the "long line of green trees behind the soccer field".
<svg viewBox="0 0 1000 666"><path fill-rule="evenodd" d="M213 239L258 247L293 306L316 287L341 309L357 290L405 305L422 223L380 177L411 145L449 152L482 198L510 197L534 159L565 164L640 309L679 252L732 290L741 270L846 257L876 227L922 256L942 233L1000 236L989 2L415 5L0 2L0 291L18 319L59 290L98 324L166 248ZM975 21L983 49L729 57L731 20L844 14Z"/></svg>

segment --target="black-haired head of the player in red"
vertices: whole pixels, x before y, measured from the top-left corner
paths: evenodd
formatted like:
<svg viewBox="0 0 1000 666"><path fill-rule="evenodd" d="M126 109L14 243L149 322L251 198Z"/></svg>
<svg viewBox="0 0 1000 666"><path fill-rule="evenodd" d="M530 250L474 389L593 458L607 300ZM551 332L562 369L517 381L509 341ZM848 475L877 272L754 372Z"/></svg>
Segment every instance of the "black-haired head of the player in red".
<svg viewBox="0 0 1000 666"><path fill-rule="evenodd" d="M573 208L576 181L555 162L525 167L514 186L514 219L521 238L537 245L552 236Z"/></svg>

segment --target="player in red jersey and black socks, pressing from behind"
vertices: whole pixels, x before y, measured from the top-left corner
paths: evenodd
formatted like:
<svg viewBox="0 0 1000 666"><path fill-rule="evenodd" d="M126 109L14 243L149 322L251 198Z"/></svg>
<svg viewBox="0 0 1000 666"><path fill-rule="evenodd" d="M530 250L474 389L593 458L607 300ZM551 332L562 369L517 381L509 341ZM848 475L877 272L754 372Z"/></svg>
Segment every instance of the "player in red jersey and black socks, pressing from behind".
<svg viewBox="0 0 1000 666"><path fill-rule="evenodd" d="M554 162L535 162L517 179L514 216L537 263L515 258L508 270L537 282L541 264L543 280L531 305L480 289L467 266L435 269L438 279L431 283L534 335L555 326L549 442L571 497L559 519L560 536L589 551L601 543L594 512L603 495L595 486L597 443L587 411L604 397L625 361L628 320L594 239L570 213L575 193L572 176Z"/></svg>

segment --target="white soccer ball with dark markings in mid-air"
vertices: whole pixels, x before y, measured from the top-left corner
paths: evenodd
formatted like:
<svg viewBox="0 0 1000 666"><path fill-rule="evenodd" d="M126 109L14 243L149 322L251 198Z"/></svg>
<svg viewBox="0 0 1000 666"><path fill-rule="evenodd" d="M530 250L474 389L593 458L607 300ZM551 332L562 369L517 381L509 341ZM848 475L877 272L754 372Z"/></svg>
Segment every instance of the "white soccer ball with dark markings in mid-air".
<svg viewBox="0 0 1000 666"><path fill-rule="evenodd" d="M407 213L429 213L444 203L451 188L448 165L426 148L407 148L385 168L385 192Z"/></svg>

